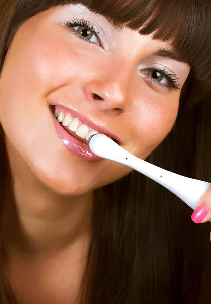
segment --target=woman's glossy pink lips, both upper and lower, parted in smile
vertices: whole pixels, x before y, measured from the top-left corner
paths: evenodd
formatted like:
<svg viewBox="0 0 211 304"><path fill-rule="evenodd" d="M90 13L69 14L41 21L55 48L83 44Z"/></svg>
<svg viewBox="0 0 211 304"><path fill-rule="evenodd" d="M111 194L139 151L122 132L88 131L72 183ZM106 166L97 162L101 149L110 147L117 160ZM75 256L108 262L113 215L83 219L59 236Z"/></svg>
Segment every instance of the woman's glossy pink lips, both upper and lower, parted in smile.
<svg viewBox="0 0 211 304"><path fill-rule="evenodd" d="M59 106L59 107L61 107L61 106ZM65 110L69 113L72 113L72 115L77 117L79 120L83 121L84 123L86 122L88 124L89 120L86 117L85 118L82 117L82 115L80 115L75 110L72 110L72 109L69 109L69 108L66 108L66 107L65 107ZM69 130L67 132L65 130L67 128L64 128L63 126L60 125L60 123L54 117L54 115L51 111L51 107L50 107L50 114L51 114L51 117L53 119L53 123L54 123L55 129L56 129L56 132L57 132L59 138L61 139L62 143L71 151L71 153L73 153L74 155L76 155L80 159L85 160L85 161L89 161L89 162L96 162L96 161L102 160L102 158L95 155L90 150L89 147L83 145L83 143L80 142L80 140L78 140L77 138L72 136L69 133ZM92 127L92 128L96 128L96 126L93 123L90 123L89 126ZM96 129L99 130L100 128L97 127ZM101 130L102 130L102 128L101 128ZM102 132L101 130L99 130L99 131ZM105 132L103 132L103 133L105 134ZM81 138L81 141L82 141L82 138Z"/></svg>

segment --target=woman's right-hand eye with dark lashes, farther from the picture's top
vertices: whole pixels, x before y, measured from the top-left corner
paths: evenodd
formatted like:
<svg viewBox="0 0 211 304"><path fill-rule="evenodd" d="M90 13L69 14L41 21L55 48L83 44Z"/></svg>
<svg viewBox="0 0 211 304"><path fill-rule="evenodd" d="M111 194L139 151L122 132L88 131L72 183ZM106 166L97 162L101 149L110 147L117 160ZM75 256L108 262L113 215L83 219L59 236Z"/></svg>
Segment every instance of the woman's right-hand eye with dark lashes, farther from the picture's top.
<svg viewBox="0 0 211 304"><path fill-rule="evenodd" d="M174 89L176 91L180 90L180 84L177 81L178 78L176 78L171 71L167 70L166 67L163 69L157 67L144 69L143 73L147 75L150 81L156 86Z"/></svg>

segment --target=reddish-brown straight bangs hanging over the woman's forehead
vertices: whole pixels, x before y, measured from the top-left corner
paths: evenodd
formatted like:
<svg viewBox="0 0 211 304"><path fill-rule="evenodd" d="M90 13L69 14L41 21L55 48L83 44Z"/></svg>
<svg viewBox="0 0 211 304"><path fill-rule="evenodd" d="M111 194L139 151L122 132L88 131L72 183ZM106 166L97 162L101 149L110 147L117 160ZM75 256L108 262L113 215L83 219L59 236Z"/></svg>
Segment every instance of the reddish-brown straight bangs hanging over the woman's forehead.
<svg viewBox="0 0 211 304"><path fill-rule="evenodd" d="M117 28L126 25L142 35L152 34L153 39L170 42L191 67L200 66L207 58L211 33L211 6L207 0L83 0L80 3L104 15Z"/></svg>

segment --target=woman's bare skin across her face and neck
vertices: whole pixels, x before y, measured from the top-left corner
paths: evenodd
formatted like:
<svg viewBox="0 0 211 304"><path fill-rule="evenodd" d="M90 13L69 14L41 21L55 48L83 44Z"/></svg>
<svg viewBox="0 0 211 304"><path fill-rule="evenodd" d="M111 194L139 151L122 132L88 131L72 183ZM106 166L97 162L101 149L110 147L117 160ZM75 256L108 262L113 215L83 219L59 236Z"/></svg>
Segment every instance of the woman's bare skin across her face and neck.
<svg viewBox="0 0 211 304"><path fill-rule="evenodd" d="M66 27L71 18L94 23L101 44ZM72 155L56 133L49 105L70 105L145 159L170 132L180 91L153 84L143 69L166 66L181 88L190 71L186 63L152 56L161 47L171 49L126 27L117 31L81 5L51 8L16 33L0 78L0 120L14 180L14 217L8 212L5 223L8 273L22 303L51 303L53 297L59 303L65 296L75 303L69 290L77 290L86 260L93 190L131 170ZM94 100L93 93L104 100Z"/></svg>

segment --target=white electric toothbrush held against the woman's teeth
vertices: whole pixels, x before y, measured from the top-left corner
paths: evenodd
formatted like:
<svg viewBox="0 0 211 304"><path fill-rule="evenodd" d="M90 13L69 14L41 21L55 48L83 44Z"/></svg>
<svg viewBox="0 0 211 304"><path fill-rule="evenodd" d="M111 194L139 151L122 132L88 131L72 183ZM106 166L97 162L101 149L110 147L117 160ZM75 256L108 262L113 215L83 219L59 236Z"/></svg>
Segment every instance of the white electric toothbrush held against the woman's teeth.
<svg viewBox="0 0 211 304"><path fill-rule="evenodd" d="M153 179L192 209L195 209L202 195L211 186L208 182L181 176L141 160L104 134L91 135L88 145L97 156L126 165Z"/></svg>

